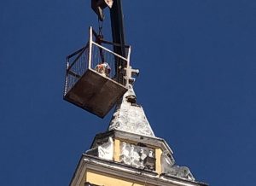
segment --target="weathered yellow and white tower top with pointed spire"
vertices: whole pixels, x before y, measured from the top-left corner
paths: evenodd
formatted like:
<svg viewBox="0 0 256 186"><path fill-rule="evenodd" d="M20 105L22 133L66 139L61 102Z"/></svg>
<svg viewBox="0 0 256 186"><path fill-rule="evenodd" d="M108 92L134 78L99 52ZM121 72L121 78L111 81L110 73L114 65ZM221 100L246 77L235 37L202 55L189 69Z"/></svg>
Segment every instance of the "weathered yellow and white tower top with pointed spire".
<svg viewBox="0 0 256 186"><path fill-rule="evenodd" d="M71 186L205 186L177 166L167 142L155 137L129 86L108 131L97 134L79 160Z"/></svg>

